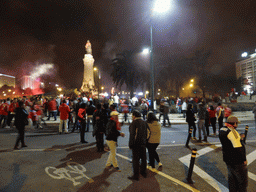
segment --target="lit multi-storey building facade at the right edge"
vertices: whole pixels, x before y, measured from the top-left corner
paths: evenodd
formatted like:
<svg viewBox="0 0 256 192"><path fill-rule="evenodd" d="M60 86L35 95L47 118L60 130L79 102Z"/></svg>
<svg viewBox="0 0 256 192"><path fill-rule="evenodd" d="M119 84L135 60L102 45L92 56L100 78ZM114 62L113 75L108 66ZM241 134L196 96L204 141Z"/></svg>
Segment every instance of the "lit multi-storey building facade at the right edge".
<svg viewBox="0 0 256 192"><path fill-rule="evenodd" d="M256 53L236 63L236 77L242 78L244 91L256 91Z"/></svg>

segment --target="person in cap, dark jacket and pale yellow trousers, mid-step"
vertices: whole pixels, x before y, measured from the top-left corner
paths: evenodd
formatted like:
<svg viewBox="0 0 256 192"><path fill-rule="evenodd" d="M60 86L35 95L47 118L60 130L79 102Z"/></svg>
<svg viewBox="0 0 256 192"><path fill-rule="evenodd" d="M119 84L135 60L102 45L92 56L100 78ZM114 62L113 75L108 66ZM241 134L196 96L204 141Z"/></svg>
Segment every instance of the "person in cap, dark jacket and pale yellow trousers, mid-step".
<svg viewBox="0 0 256 192"><path fill-rule="evenodd" d="M125 134L118 131L117 124L118 122L118 115L119 113L117 111L112 111L110 113L110 119L107 123L106 128L106 143L110 149L110 153L108 156L106 168L114 167L117 171L120 171L116 159L116 146L117 146L117 138L119 136L124 137Z"/></svg>

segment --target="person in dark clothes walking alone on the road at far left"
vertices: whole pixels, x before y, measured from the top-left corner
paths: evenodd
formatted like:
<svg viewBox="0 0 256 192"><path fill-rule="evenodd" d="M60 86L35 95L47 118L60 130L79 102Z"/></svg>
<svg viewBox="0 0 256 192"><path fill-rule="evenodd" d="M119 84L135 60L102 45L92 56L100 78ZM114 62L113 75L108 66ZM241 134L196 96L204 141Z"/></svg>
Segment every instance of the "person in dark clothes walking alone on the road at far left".
<svg viewBox="0 0 256 192"><path fill-rule="evenodd" d="M24 108L24 103L19 101L19 107L15 109L15 121L14 125L19 132L17 137L14 150L18 150L19 142L21 142L21 147L27 147L24 142L24 132L25 132L25 125L28 124L28 112Z"/></svg>

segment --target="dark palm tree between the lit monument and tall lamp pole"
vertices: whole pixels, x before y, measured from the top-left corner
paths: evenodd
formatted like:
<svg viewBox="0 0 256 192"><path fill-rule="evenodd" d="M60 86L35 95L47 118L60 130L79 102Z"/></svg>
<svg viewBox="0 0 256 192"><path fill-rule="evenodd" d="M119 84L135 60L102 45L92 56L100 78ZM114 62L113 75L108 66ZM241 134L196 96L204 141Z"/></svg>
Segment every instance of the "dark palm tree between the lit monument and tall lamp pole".
<svg viewBox="0 0 256 192"><path fill-rule="evenodd" d="M134 62L134 51L125 50L112 60L113 70L111 77L116 85L126 84L133 97L134 90L143 83L141 69Z"/></svg>

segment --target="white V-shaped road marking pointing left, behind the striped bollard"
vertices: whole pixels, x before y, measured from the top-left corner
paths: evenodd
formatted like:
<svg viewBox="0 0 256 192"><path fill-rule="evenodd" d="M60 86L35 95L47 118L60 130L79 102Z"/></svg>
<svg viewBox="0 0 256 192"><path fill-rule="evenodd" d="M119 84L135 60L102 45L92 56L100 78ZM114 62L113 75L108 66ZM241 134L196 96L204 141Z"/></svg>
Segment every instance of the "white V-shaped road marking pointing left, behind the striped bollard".
<svg viewBox="0 0 256 192"><path fill-rule="evenodd" d="M211 147L203 148L203 149L197 151L198 155L196 157L205 155L206 153L209 153L213 150L214 150L214 148L211 148ZM189 167L190 159L191 159L191 154L179 158L179 160L187 167ZM198 166L194 165L193 172L196 173L198 176L200 176L202 179L204 179L209 185L211 185L217 191L228 191L228 188L226 188L224 185L222 185L220 182L218 182L212 176L207 174L205 171L200 169Z"/></svg>

